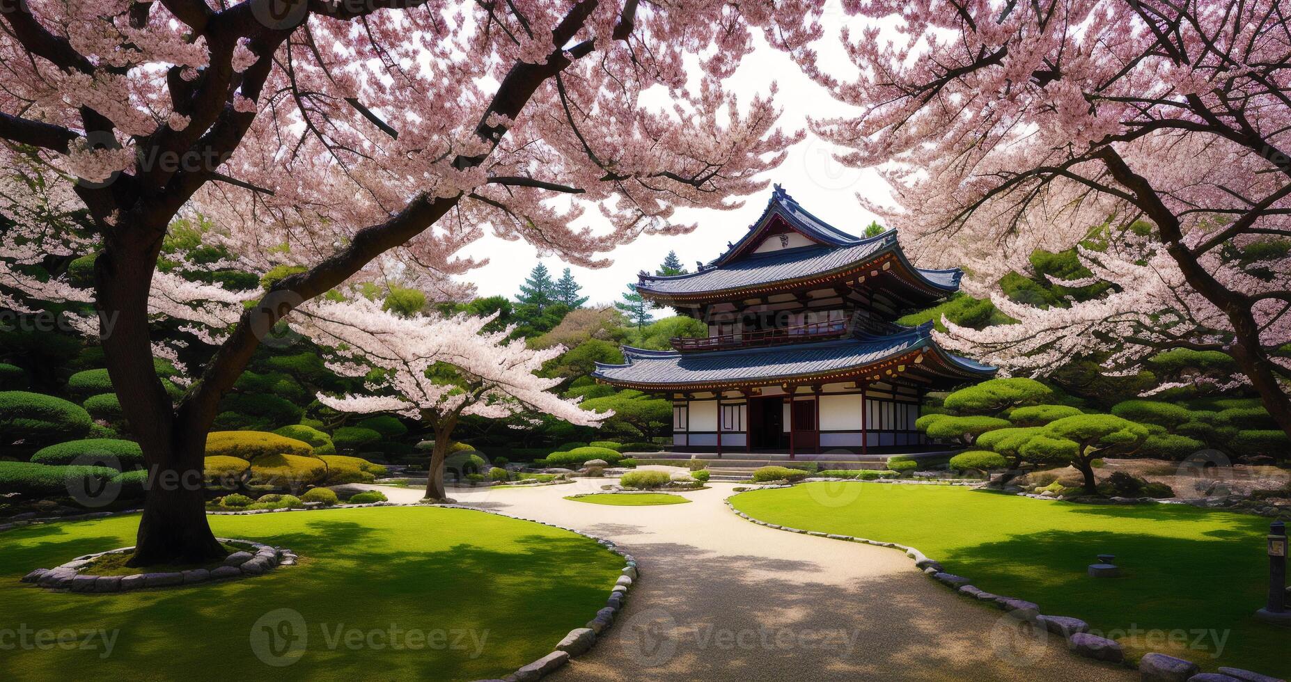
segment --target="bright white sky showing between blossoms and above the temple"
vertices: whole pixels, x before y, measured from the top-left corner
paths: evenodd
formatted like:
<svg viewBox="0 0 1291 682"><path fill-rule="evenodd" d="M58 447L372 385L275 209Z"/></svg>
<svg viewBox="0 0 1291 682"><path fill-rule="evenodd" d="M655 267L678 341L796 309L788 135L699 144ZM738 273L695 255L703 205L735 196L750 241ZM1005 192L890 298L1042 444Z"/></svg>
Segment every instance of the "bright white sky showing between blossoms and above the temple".
<svg viewBox="0 0 1291 682"><path fill-rule="evenodd" d="M816 45L821 52L822 63L829 68L837 66L837 72L847 72L849 62L838 46L837 28L831 23L843 19L838 0L829 0L825 26L826 36ZM833 70L831 70L833 71ZM753 54L745 57L735 76L727 81L727 88L740 95L741 102L751 99L753 94L766 94L771 81L777 81L780 92L777 104L784 110L780 125L785 130L806 129L808 116L831 116L847 113L846 107L809 79L781 52L760 44ZM830 153L833 146L807 133L807 138L790 148L785 162L766 175L767 180L780 183L790 196L804 209L829 222L839 229L859 233L875 217L861 209L856 195L883 200L887 184L873 170L843 168ZM683 236L649 236L633 244L620 246L605 254L613 264L600 269L573 267L573 276L582 285L582 294L590 297L589 304L620 300L627 282L636 281L636 272L653 272L669 250L675 250L682 263L691 271L696 260L711 260L726 250L728 241L740 239L766 208L771 187L745 197L740 209L720 211L709 209L679 209L676 222L697 223L698 228ZM599 214L589 211L589 224L596 227ZM886 226L893 227L893 226ZM514 297L520 282L537 263L537 251L523 241L505 241L492 235L480 239L462 250L463 255L488 258L489 263L471 271L466 278L475 282L479 295L501 294ZM545 258L553 276L568 266L556 258Z"/></svg>

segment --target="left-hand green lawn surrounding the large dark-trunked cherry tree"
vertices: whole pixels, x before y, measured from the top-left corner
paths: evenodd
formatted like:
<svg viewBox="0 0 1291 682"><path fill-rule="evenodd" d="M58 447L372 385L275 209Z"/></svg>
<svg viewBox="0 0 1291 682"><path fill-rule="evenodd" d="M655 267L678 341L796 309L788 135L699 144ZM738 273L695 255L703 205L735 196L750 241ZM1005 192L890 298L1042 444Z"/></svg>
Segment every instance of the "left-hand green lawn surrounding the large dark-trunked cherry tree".
<svg viewBox="0 0 1291 682"><path fill-rule="evenodd" d="M301 554L300 566L247 580L125 594L18 581L37 566L133 544L137 525L130 516L0 534L5 679L498 678L590 620L622 567L595 541L549 526L392 507L210 517L216 535ZM253 625L278 609L300 612L307 639L300 660L271 668L253 652L253 641L269 641ZM35 630L115 639L106 658L98 634L94 650L23 647L23 632L37 643Z"/></svg>

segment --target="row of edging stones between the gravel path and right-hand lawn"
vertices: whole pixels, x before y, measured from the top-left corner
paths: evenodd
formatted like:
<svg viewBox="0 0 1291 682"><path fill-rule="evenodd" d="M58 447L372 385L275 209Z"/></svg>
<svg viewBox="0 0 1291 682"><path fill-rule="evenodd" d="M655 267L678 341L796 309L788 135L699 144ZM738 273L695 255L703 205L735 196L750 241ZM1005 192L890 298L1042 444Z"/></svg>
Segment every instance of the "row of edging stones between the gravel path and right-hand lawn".
<svg viewBox="0 0 1291 682"><path fill-rule="evenodd" d="M778 486L789 487L789 486ZM733 496L733 495L732 495ZM1050 498L1041 498L1050 499ZM1066 639L1068 648L1084 658L1108 661L1128 664L1124 659L1124 650L1121 643L1115 639L1108 639L1105 637L1099 637L1090 634L1088 623L1070 616L1050 616L1041 614L1041 607L1037 603L1020 599L1016 597L1002 597L999 594L991 594L982 589L973 587L970 579L961 575L954 575L945 572L941 563L936 560L928 558L913 547L908 547L900 543L883 543L879 540L869 540L865 538L856 538L852 535L838 535L831 532L820 532L813 530L791 529L789 526L780 526L777 523L768 523L753 518L751 516L735 508L731 498L726 500L727 507L735 512L736 516L744 518L745 521L757 523L759 526L766 526L772 530L782 530L786 532L799 532L803 535L815 535L818 538L829 538L831 540L844 540L852 543L864 543L877 547L891 547L905 552L905 556L914 560L915 567L923 570L924 574L931 575L939 583L946 585L948 588L955 590L957 593L973 598L982 603L989 603L997 609L1007 611L1007 615L1015 620L1032 623L1037 628L1044 628L1046 632L1052 634L1060 634ZM1250 670L1242 670L1239 668L1220 668L1220 676L1207 677L1201 674L1201 668L1188 660L1176 659L1174 656L1167 656L1166 654L1145 654L1139 661L1139 670L1143 679L1148 681L1179 681L1179 682L1215 682L1233 679L1237 682L1282 682L1278 678L1261 676L1259 673L1252 673Z"/></svg>

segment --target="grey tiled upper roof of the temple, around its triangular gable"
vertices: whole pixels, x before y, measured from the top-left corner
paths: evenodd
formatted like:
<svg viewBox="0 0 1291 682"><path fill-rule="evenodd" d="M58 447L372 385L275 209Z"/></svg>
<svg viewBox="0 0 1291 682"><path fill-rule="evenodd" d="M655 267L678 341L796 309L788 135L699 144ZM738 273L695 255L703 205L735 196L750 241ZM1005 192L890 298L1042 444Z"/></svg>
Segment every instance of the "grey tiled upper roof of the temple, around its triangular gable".
<svg viewBox="0 0 1291 682"><path fill-rule="evenodd" d="M778 213L794 229L817 244L735 258L762 235L763 229L759 229L759 227L767 224L767 218L771 213ZM924 269L910 264L901 251L896 229L888 229L882 235L869 239L855 237L803 210L777 184L776 192L767 204L767 210L763 211L762 218L754 223L744 239L733 244L713 264L688 275L653 276L643 273L639 278L640 281L636 284L636 289L647 295L657 294L661 298L669 298L670 295L759 287L815 275L825 275L856 263L874 260L887 253L896 255L905 269L911 272L928 287L945 291L946 294L951 294L959 289L959 278L963 276L963 272L958 268Z"/></svg>

